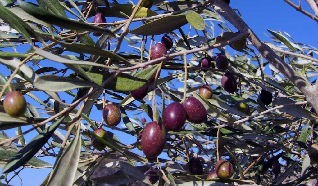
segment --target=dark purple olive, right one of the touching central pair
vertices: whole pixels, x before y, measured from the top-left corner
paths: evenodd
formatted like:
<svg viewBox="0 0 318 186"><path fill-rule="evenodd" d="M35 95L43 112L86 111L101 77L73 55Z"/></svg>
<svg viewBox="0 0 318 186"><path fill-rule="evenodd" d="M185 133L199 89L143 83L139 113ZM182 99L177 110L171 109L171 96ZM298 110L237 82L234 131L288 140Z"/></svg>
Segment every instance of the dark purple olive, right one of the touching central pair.
<svg viewBox="0 0 318 186"><path fill-rule="evenodd" d="M189 122L200 124L207 120L207 112L204 105L197 98L189 96L183 102L186 118Z"/></svg>

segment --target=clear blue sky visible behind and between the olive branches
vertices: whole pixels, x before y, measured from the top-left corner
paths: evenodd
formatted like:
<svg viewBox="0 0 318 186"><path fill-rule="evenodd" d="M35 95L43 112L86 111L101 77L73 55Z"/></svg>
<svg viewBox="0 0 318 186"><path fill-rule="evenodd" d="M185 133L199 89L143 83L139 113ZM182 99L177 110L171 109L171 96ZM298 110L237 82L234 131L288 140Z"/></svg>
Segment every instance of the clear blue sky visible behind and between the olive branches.
<svg viewBox="0 0 318 186"><path fill-rule="evenodd" d="M118 2L124 3L125 1ZM137 0L134 0L134 2L137 3ZM298 0L294 0L292 2L298 5ZM301 3L302 8L308 10L308 5L306 4L306 2L302 0ZM268 33L266 29L280 30L282 32L287 32L291 37L294 38L294 40L299 43L306 43L314 47L318 47L317 23L306 17L305 15L301 14L300 12L297 12L294 8L287 5L287 3L285 3L283 0L232 0L231 7L240 11L243 20L263 41L271 41L271 39L266 36L266 34L270 35L270 33ZM154 10L154 8L152 9ZM111 19L107 18L107 22L109 22L109 20ZM215 24L217 24L217 22L215 22ZM233 29L233 31L236 31L234 27L231 28ZM217 32L215 34L218 35ZM124 45L122 45L122 47L124 47ZM129 48L122 49L130 50ZM100 121L100 114L101 113L99 113L99 116L95 118L97 121ZM134 118L134 116L132 118ZM149 118L147 118L147 121L149 122ZM14 130L9 131L8 134L10 134L10 136L14 136ZM31 139L32 135L35 135L35 133L28 135L27 139L29 137ZM119 137L121 138L121 136ZM127 137L127 135L125 137ZM129 141L131 139L135 140L135 137L128 137L126 140L121 140L123 140L123 143L129 144L131 143L131 141ZM51 163L53 164L54 160L52 162L52 158L50 159ZM43 160L49 161L48 159ZM49 172L50 169L26 168L19 173L19 176L22 178L24 185L34 186L42 183L42 181L45 179L45 176ZM20 180L16 176L10 182L10 184L20 185Z"/></svg>

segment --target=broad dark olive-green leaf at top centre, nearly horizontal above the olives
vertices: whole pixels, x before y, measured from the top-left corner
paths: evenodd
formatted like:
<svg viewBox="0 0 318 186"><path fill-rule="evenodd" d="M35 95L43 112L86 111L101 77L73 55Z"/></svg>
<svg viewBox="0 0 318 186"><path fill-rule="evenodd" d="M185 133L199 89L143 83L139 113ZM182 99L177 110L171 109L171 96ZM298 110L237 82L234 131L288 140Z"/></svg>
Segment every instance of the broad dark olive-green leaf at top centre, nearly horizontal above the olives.
<svg viewBox="0 0 318 186"><path fill-rule="evenodd" d="M185 14L165 16L130 30L136 35L152 36L169 33L187 24Z"/></svg>

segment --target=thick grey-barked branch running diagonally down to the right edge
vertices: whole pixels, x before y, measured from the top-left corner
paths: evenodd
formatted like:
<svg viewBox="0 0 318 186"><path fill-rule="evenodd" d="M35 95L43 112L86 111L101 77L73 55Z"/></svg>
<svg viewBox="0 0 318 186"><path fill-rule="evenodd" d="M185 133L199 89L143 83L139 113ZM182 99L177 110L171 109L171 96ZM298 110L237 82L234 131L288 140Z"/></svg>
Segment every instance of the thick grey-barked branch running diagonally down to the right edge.
<svg viewBox="0 0 318 186"><path fill-rule="evenodd" d="M315 110L318 110L318 93L314 86L299 71L294 70L284 60L275 54L275 52L265 43L263 43L252 29L237 15L234 10L224 0L214 0L217 4L214 9L218 11L226 20L242 32L249 32L248 39L252 45L259 51L260 55L268 60L276 69L286 76L294 85L306 96L308 103L312 104ZM218 7L220 9L218 9Z"/></svg>

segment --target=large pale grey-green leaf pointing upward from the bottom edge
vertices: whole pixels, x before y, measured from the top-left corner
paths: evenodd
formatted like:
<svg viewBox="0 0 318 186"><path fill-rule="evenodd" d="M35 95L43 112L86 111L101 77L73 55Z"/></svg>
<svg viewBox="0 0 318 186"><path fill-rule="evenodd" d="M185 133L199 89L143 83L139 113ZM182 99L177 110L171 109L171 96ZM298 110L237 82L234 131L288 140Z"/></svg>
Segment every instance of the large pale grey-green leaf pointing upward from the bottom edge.
<svg viewBox="0 0 318 186"><path fill-rule="evenodd" d="M51 173L49 186L73 185L81 152L80 126L71 143L66 147L61 157L55 163Z"/></svg>

